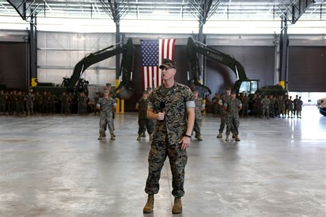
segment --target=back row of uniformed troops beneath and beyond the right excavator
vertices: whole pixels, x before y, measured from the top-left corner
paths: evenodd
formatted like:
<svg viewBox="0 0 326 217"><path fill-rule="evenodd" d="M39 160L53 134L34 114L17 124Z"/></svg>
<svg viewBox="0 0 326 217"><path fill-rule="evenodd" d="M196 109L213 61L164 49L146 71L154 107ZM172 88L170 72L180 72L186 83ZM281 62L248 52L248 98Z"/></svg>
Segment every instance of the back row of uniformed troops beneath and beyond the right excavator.
<svg viewBox="0 0 326 217"><path fill-rule="evenodd" d="M255 94L253 98L248 98L246 93L237 95L237 98L241 100L242 110L240 115L242 117L249 117L249 110L252 109L252 115L254 117L298 117L301 118L301 111L303 107L303 101L301 97L296 95L296 98L292 100L292 96L274 96L265 95L264 98L261 95ZM206 96L206 107L209 113L214 115L222 115L224 113L223 106L219 104L221 94L216 93L212 100L209 95Z"/></svg>

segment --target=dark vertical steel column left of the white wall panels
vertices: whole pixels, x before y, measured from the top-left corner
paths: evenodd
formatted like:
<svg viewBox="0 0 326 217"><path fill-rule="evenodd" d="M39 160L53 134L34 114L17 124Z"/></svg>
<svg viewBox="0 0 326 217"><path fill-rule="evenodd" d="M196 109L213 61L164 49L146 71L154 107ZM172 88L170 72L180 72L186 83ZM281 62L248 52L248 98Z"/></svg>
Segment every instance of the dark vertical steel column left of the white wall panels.
<svg viewBox="0 0 326 217"><path fill-rule="evenodd" d="M36 17L31 16L32 22L30 22L30 78L37 78L37 29L36 29ZM28 80L30 84L31 80Z"/></svg>

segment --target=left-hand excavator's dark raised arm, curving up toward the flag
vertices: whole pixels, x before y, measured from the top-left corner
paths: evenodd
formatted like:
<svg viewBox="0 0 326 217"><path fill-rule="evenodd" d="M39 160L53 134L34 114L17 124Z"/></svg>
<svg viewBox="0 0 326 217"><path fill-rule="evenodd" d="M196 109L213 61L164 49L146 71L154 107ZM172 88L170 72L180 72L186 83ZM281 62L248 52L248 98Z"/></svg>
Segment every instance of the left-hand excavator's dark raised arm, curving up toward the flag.
<svg viewBox="0 0 326 217"><path fill-rule="evenodd" d="M85 56L85 58L80 60L74 67L74 72L72 73L72 76L70 78L64 78L63 86L67 87L68 91L71 92L74 92L74 90L76 90L76 87L78 88L80 86L86 86L84 84L85 81L83 81L83 79L80 77L83 75L84 71L88 67L94 65L96 62L100 62L112 56L122 54L122 61L120 67L122 80L120 82L119 87L116 89L116 91L120 89L120 92L124 93L123 95L120 94L120 97L122 95L122 98L124 99L130 98L132 94L131 76L133 71L133 60L134 60L134 52L135 52L135 49L133 47L133 42L131 38L129 38L126 45L113 48L115 46L116 45L111 45L109 47L106 47L105 49L101 49L98 52L94 52Z"/></svg>

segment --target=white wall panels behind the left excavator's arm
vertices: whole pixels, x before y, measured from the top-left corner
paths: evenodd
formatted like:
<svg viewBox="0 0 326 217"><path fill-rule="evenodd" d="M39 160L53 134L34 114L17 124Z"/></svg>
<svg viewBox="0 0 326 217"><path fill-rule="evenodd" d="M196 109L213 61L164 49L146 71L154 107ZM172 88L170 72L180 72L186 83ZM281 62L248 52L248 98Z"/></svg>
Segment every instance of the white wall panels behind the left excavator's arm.
<svg viewBox="0 0 326 217"><path fill-rule="evenodd" d="M77 62L87 54L115 44L111 33L38 32L38 77L40 82L61 84L72 76ZM105 84L116 79L116 57L91 65L82 78L90 84Z"/></svg>

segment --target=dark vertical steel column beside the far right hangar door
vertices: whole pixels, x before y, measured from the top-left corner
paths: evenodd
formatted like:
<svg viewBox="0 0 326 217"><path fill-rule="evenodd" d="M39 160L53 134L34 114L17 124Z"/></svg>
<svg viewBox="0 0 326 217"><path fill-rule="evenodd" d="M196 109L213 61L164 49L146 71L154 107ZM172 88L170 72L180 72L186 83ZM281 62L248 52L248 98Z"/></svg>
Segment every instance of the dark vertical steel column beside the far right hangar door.
<svg viewBox="0 0 326 217"><path fill-rule="evenodd" d="M281 71L279 75L279 84L285 89L287 88L287 54L289 48L289 36L287 35L287 20L283 16L281 22Z"/></svg>

